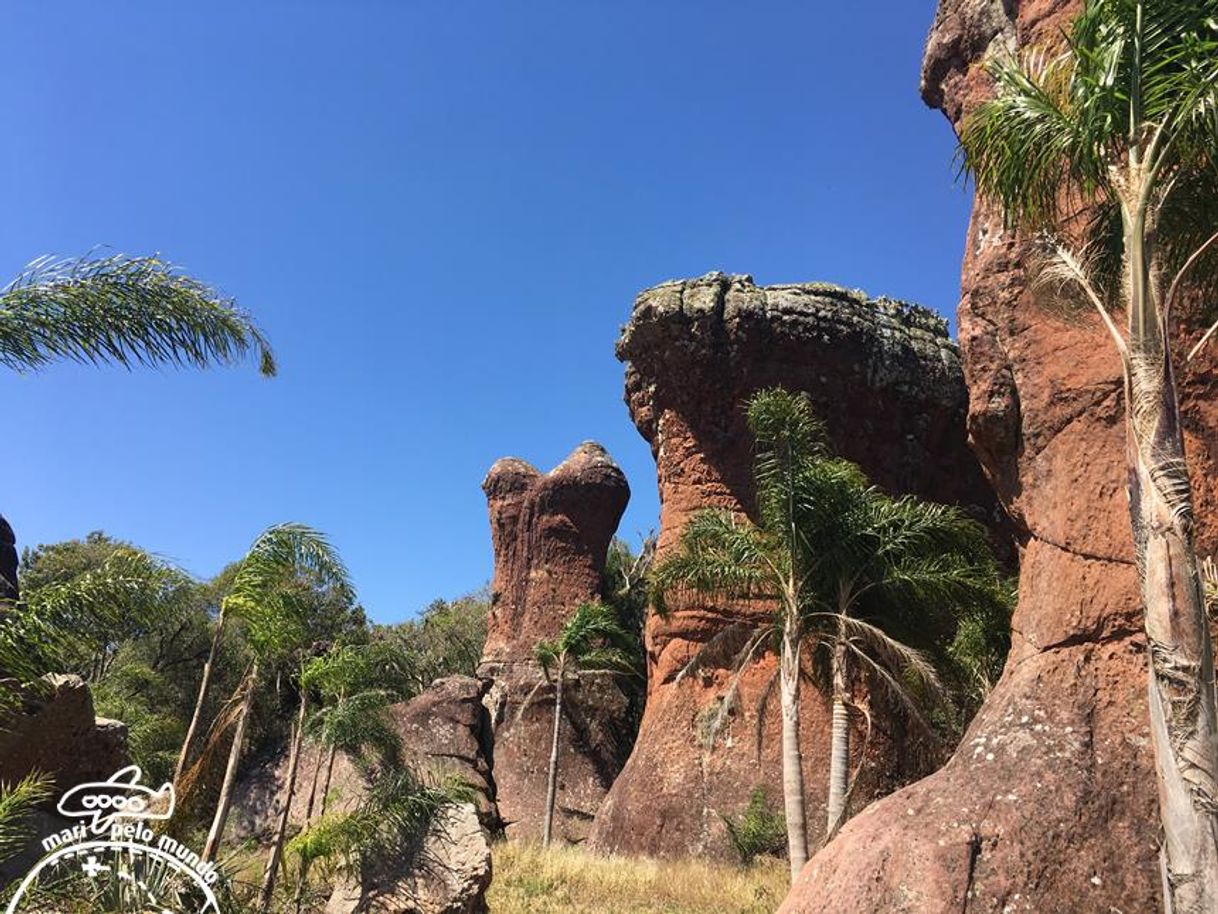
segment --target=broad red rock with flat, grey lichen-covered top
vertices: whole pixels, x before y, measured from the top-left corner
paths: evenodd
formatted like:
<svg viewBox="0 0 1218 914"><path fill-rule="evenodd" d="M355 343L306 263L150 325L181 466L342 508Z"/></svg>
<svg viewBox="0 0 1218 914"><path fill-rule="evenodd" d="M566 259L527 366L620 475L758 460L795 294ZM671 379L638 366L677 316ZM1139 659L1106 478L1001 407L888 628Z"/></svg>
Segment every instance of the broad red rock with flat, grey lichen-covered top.
<svg viewBox="0 0 1218 914"><path fill-rule="evenodd" d="M878 484L963 505L1001 530L965 441L967 396L956 349L945 322L926 308L828 284L760 288L749 277L713 273L639 295L618 356L627 363L631 416L655 456L660 554L700 508L752 509L743 405L775 385L806 391L838 451ZM781 796L777 701L759 701L776 658L747 667L731 723L711 743L708 724L727 698L737 636L756 615L710 601L671 608L667 618L648 622L642 729L592 843L620 853L726 856L720 817L742 809L756 786L776 802ZM699 653L697 674L680 676ZM857 804L924 773L915 753L898 749L901 736L873 735ZM804 691L803 742L810 821L820 823L828 712L815 689Z"/></svg>

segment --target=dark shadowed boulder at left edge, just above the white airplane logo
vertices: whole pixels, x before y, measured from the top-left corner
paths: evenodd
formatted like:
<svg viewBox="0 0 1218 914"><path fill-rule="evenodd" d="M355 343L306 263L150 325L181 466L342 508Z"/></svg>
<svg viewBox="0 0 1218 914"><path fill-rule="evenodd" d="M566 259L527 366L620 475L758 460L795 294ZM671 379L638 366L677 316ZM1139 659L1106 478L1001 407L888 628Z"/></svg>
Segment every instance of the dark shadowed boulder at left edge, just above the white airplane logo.
<svg viewBox="0 0 1218 914"><path fill-rule="evenodd" d="M51 673L24 686L0 680L0 689L21 698L0 718L0 784L41 771L62 792L106 780L130 764L127 725L94 714L93 695L80 676Z"/></svg>

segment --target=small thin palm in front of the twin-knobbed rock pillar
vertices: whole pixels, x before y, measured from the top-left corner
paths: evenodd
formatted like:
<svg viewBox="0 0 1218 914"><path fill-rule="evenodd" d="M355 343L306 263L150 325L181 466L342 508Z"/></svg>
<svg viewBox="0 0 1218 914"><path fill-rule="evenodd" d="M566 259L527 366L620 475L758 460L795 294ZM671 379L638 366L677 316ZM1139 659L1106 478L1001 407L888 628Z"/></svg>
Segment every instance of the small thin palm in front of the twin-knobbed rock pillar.
<svg viewBox="0 0 1218 914"><path fill-rule="evenodd" d="M566 678L577 676L581 671L631 671L630 642L630 634L618 622L618 615L613 609L602 603L581 603L555 639L537 645L536 657L542 668L542 684L549 682L552 679L554 684L554 730L549 745L549 769L546 774L546 815L541 838L544 847L549 847L554 830L554 803L558 798L558 748L563 726L563 695ZM533 692L536 691L535 689ZM526 700L521 706L521 713L527 704Z"/></svg>

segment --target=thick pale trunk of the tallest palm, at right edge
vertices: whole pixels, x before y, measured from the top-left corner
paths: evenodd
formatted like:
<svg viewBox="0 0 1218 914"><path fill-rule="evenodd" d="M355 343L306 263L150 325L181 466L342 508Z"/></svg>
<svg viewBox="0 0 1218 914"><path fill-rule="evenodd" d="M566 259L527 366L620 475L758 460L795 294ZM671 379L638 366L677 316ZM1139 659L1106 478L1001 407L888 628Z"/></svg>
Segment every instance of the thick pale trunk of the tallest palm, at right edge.
<svg viewBox="0 0 1218 914"><path fill-rule="evenodd" d="M1218 910L1218 713L1192 491L1166 345L1130 346L1129 512L1145 607L1167 914Z"/></svg>

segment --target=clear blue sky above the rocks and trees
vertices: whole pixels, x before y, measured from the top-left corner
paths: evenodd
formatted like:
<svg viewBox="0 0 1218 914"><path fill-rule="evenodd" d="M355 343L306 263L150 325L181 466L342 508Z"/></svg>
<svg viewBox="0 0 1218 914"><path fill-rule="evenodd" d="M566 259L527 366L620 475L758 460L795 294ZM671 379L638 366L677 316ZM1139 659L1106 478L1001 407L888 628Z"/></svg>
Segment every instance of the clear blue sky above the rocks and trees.
<svg viewBox="0 0 1218 914"><path fill-rule="evenodd" d="M0 378L0 511L21 545L101 528L200 575L301 520L391 622L490 576L496 458L591 438L633 539L658 498L613 344L638 290L723 269L955 307L933 6L6 5L0 272L160 251L281 370Z"/></svg>

